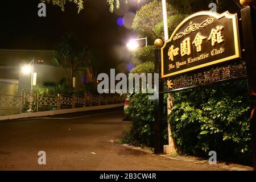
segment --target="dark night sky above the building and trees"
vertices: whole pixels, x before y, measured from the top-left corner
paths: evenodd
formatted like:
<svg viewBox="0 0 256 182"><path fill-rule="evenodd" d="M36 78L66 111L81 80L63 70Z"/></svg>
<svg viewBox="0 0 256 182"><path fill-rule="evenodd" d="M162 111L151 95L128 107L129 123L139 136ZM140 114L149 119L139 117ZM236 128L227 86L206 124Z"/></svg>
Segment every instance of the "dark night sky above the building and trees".
<svg viewBox="0 0 256 182"><path fill-rule="evenodd" d="M68 33L97 53L98 73L109 72L110 68L117 68L123 63L129 64L130 53L125 45L135 35L129 29L117 26L117 18L122 15L110 13L106 0L85 1L85 9L80 14L77 14L77 7L72 3L66 5L65 12L60 7L47 4L46 18L38 16L39 2L1 2L0 48L53 49ZM122 6L119 11L129 9L135 12L138 5L135 1L132 3ZM120 51L121 47L123 51ZM119 56L115 54L117 52Z"/></svg>

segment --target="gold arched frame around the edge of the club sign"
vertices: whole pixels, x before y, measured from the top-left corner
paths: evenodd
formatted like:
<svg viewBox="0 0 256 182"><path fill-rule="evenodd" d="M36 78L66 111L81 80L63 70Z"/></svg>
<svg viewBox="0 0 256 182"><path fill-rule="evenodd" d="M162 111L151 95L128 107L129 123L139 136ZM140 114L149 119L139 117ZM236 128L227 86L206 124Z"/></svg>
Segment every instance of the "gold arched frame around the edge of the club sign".
<svg viewBox="0 0 256 182"><path fill-rule="evenodd" d="M201 65L197 65L195 67L191 67L191 68L187 68L187 69L183 69L181 71L176 71L173 73L168 73L166 75L164 75L164 54L163 54L163 50L166 47L167 43L170 43L172 41L172 39L174 38L174 36L177 36L178 34L180 34L180 32L177 32L180 30L180 27L183 26L184 23L187 23L189 20L191 20L192 18L195 18L196 16L201 16L201 15L208 15L209 18L210 17L214 17L216 19L221 19L221 18L228 18L228 19L232 19L233 22L233 32L234 32L234 48L235 48L235 54L229 57L225 57L219 60L215 60L215 61L211 61L209 63L205 63L205 64L201 64ZM240 50L240 37L239 37L239 30L238 30L238 18L237 18L237 14L230 14L228 11L225 11L222 14L218 14L215 13L213 11L199 11L198 13L192 14L190 16L188 16L187 18L185 18L180 24L179 26L177 26L174 30L174 32L171 35L171 38L168 39L166 42L164 42L163 47L161 48L161 78L166 78L166 77L170 77L170 76L174 76L174 75L179 75L180 73L184 73L184 72L188 72L188 71L193 71L195 69L199 69L199 68L204 68L204 67L208 67L210 65L214 65L214 64L218 64L218 63L222 63L224 61L229 61L229 60L233 60L233 59L238 59L241 58L241 50Z"/></svg>

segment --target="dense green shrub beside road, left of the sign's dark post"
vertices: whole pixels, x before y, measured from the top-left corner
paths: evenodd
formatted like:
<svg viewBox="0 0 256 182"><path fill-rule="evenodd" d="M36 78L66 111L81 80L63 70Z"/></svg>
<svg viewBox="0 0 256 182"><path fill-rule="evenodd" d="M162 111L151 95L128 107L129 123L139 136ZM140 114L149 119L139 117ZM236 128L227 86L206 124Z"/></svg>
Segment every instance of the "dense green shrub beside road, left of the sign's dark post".
<svg viewBox="0 0 256 182"><path fill-rule="evenodd" d="M165 99L166 100L166 99ZM121 138L121 143L144 144L148 147L154 146L154 117L155 102L148 100L148 94L134 94L129 100L130 104L126 115L131 119L131 128L128 134ZM164 103L166 106L166 102ZM164 108L166 111L166 107ZM164 119L163 133L164 142L167 143L167 119Z"/></svg>

